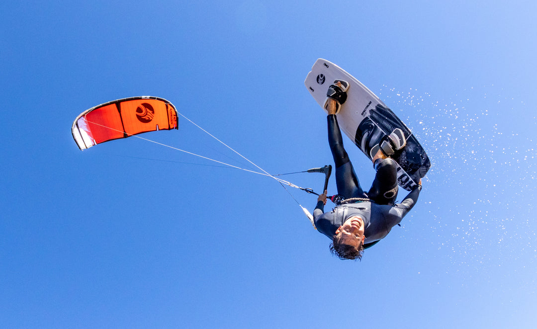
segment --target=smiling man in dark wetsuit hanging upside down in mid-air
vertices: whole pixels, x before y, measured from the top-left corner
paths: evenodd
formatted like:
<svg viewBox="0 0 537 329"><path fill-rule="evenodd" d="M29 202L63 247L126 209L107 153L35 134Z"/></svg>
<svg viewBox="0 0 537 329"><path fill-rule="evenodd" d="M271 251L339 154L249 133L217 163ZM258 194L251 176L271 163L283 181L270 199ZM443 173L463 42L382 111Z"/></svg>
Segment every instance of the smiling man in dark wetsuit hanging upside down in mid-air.
<svg viewBox="0 0 537 329"><path fill-rule="evenodd" d="M376 174L371 188L365 193L343 148L336 116L346 100L348 87L345 81L331 85L325 108L328 111L328 142L336 165L337 191L343 199L351 200L345 200L332 211L324 213L324 191L317 199L313 217L317 230L332 239L332 254L340 259L361 259L364 249L386 237L416 204L422 181L401 203L394 204L398 192L397 164L387 153L397 152L406 144L401 129L395 129L371 151Z"/></svg>

